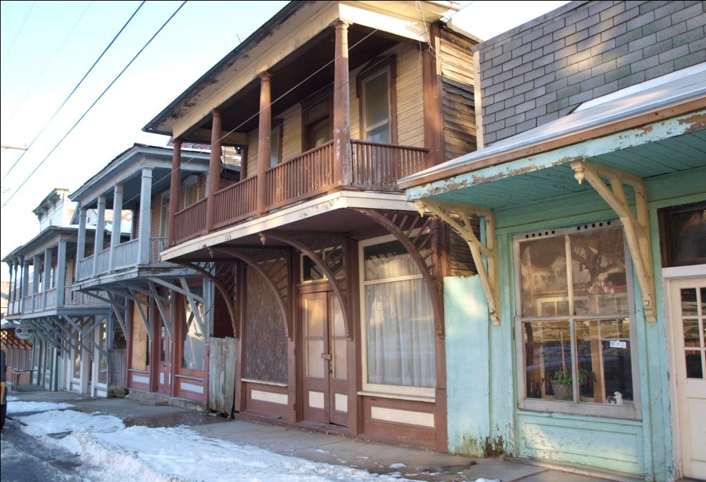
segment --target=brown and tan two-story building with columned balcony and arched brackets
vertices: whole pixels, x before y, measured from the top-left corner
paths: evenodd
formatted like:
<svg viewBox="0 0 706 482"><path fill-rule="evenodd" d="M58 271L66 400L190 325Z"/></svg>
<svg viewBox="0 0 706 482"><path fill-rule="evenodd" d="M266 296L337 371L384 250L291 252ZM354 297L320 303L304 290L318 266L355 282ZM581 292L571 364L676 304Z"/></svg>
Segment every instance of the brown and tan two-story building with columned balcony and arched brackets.
<svg viewBox="0 0 706 482"><path fill-rule="evenodd" d="M215 263L238 416L446 450L443 277L474 266L396 183L475 149L456 8L292 2L145 126L211 145L161 257ZM227 187L222 145L241 152Z"/></svg>

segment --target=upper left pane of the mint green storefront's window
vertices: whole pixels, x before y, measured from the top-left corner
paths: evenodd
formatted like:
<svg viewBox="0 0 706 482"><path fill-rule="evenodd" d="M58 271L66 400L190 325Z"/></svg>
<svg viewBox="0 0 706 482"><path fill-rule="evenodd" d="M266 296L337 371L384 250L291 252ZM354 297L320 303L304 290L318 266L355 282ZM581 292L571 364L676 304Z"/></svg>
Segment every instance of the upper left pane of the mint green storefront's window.
<svg viewBox="0 0 706 482"><path fill-rule="evenodd" d="M566 247L563 237L520 244L522 316L569 314Z"/></svg>

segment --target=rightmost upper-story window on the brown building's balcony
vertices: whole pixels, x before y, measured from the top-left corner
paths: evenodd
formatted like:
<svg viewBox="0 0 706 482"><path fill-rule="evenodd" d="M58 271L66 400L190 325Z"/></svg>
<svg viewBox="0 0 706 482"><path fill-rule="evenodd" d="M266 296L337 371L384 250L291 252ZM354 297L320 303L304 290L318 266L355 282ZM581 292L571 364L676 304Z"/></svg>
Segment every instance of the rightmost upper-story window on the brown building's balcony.
<svg viewBox="0 0 706 482"><path fill-rule="evenodd" d="M357 79L360 97L360 135L364 140L395 144L397 142L394 57L377 70L364 71Z"/></svg>

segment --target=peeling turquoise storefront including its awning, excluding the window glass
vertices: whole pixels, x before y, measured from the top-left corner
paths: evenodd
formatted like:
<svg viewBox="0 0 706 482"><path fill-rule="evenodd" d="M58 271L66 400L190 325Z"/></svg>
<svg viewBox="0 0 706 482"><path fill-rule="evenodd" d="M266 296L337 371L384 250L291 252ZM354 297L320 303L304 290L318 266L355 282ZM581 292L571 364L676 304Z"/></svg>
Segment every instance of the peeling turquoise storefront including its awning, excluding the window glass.
<svg viewBox="0 0 706 482"><path fill-rule="evenodd" d="M664 246L658 210L706 201L704 114L698 112L701 121L691 125L691 130L675 132L670 127L660 131L659 125L650 125L650 129L642 129L652 136L644 142L635 142L640 129L618 131L537 156L405 186L412 185L407 189L409 200L489 208L494 218L498 326L489 317L479 276L444 280L450 452L476 456L503 452L654 481L678 476L669 381L670 321L662 287ZM683 118L662 124L678 125ZM630 142L623 142L626 139ZM687 145L692 151L685 154ZM625 154L615 155L618 150ZM476 159L482 157L480 152L476 154ZM577 159L638 176L645 187L657 321L645 319L638 275L633 270L628 290L634 300L629 310L630 329L635 330L632 357L637 358L634 416L611 414L610 409L600 414L572 414L556 409L558 402L551 409L520 408L524 393L520 393L522 384L518 382L523 376L522 343L515 340L522 336L516 328L517 235L618 220L616 211L596 190L578 186L568 168L568 163ZM635 163L635 159L643 159L644 164ZM650 159L657 162L652 164ZM442 171L443 166L439 167ZM557 195L562 190L565 193ZM567 193L569 190L573 192ZM633 194L626 194L635 209Z"/></svg>

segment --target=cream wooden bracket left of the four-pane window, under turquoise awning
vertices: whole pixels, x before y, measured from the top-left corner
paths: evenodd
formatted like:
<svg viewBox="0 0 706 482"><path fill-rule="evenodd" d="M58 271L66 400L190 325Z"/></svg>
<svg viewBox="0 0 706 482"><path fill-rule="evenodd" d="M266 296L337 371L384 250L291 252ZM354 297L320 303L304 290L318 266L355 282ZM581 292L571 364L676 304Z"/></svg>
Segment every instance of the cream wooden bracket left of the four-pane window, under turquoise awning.
<svg viewBox="0 0 706 482"><path fill-rule="evenodd" d="M500 297L498 293L498 266L493 212L490 209L477 206L451 204L433 199L425 199L424 201L418 199L414 202L414 206L417 206L421 216L424 216L425 211L429 211L465 240L471 250L476 271L488 299L490 319L493 322L493 326L500 326ZM485 219L485 244L473 232L471 219L474 217L483 217Z"/></svg>

